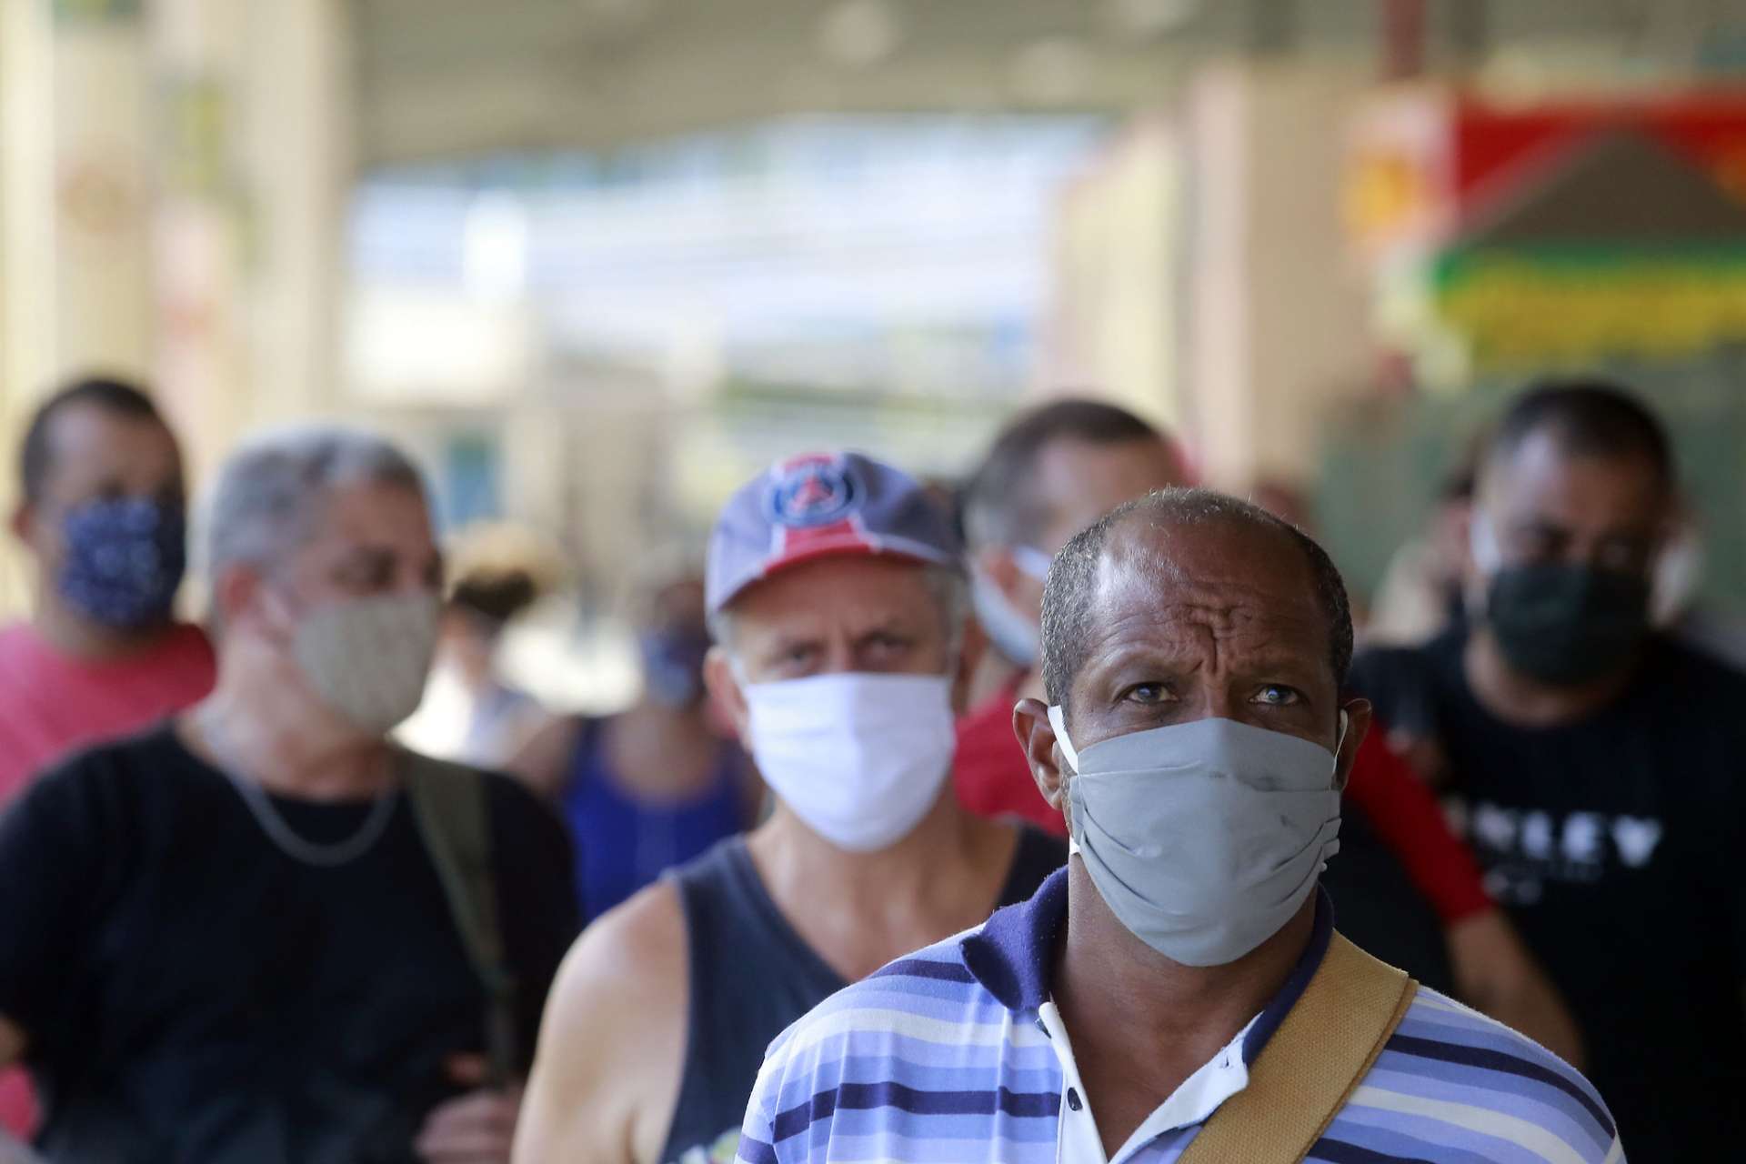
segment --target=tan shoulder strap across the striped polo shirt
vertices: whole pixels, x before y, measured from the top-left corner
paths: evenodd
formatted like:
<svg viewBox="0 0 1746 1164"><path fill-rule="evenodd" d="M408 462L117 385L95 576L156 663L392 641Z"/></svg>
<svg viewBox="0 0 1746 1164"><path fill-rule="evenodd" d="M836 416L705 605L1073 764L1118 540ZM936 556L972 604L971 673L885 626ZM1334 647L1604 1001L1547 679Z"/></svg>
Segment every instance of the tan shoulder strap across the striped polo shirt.
<svg viewBox="0 0 1746 1164"><path fill-rule="evenodd" d="M1400 1026L1418 983L1339 934L1280 1030L1177 1164L1297 1164Z"/></svg>

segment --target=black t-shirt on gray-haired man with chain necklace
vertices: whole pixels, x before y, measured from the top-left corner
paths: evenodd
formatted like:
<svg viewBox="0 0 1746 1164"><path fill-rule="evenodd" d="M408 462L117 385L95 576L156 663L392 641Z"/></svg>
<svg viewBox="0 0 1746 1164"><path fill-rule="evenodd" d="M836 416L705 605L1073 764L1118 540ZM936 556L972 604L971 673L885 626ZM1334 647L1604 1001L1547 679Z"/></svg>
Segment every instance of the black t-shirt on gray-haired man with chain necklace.
<svg viewBox="0 0 1746 1164"><path fill-rule="evenodd" d="M489 778L520 1047L576 932L569 841ZM272 799L302 838L365 803ZM161 728L70 759L0 818L0 1014L30 1040L51 1159L410 1161L443 1061L484 1049L484 988L405 798L339 867L281 852Z"/></svg>

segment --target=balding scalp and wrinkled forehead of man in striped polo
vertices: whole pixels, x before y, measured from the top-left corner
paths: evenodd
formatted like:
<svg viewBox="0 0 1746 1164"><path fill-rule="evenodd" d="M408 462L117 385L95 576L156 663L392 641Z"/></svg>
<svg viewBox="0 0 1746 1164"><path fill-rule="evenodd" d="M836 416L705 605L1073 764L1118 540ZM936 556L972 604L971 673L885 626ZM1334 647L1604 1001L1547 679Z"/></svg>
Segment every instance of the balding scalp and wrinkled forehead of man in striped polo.
<svg viewBox="0 0 1746 1164"><path fill-rule="evenodd" d="M1322 546L1245 501L1166 489L1110 511L1055 558L1042 597L1049 702L1069 705L1093 654L1172 620L1172 635L1308 654L1301 663L1334 693L1351 665L1346 586Z"/></svg>

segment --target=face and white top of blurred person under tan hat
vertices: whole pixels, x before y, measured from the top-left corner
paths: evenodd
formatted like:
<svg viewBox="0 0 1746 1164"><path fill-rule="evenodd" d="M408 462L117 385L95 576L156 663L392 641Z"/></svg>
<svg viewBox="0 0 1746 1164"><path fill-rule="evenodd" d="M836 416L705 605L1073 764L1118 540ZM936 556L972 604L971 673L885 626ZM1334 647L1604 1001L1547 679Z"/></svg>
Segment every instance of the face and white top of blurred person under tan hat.
<svg viewBox="0 0 1746 1164"><path fill-rule="evenodd" d="M466 733L456 750L466 764L510 764L552 721L540 700L505 682L498 670L505 628L538 599L533 574L515 567L477 567L449 592L436 668L468 696Z"/></svg>

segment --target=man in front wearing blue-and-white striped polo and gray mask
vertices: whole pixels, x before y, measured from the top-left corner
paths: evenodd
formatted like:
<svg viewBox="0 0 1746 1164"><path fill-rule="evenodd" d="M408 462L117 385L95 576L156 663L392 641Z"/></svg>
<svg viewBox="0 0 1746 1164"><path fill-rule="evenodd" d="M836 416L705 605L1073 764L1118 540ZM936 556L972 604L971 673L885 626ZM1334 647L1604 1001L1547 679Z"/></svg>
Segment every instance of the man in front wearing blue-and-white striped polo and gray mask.
<svg viewBox="0 0 1746 1164"><path fill-rule="evenodd" d="M1371 709L1320 546L1147 494L1062 550L1042 628L1013 721L1067 869L784 1031L739 1161L1624 1161L1582 1075L1334 932Z"/></svg>

